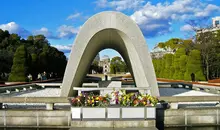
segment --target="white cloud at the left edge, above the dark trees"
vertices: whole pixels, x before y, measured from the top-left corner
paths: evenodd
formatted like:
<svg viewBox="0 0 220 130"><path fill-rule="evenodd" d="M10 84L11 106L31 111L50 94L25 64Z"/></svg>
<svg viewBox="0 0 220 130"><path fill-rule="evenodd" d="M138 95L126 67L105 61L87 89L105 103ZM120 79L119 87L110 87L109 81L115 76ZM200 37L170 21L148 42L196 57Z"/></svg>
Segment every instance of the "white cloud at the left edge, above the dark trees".
<svg viewBox="0 0 220 130"><path fill-rule="evenodd" d="M26 38L27 36L31 35L31 33L28 30L20 27L15 22L10 22L10 23L7 23L7 24L1 24L0 29L8 30L9 33L16 33L16 34L20 35L23 38Z"/></svg>

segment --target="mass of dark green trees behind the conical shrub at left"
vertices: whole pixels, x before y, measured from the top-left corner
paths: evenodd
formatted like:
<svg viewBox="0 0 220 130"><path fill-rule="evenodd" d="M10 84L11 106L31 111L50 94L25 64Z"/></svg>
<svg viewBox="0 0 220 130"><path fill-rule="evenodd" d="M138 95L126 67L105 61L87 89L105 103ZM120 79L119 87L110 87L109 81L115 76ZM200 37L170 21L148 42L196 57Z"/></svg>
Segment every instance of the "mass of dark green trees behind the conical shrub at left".
<svg viewBox="0 0 220 130"><path fill-rule="evenodd" d="M33 79L38 73L53 72L58 77L62 77L65 71L67 59L63 52L50 46L48 40L43 35L29 36L27 40L21 39L17 34L9 34L8 31L0 29L0 80L4 75L10 73L15 58L14 53L18 47L24 45L26 48L27 70ZM24 68L20 68L22 70ZM23 80L23 79L22 79Z"/></svg>

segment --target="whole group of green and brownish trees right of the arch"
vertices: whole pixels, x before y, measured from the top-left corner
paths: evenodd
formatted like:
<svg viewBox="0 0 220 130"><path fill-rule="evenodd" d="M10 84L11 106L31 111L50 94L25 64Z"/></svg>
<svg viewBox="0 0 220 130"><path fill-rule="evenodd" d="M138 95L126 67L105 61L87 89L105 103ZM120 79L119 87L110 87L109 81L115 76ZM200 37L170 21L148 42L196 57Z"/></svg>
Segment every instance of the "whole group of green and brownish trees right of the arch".
<svg viewBox="0 0 220 130"><path fill-rule="evenodd" d="M195 41L172 38L158 43L167 54L153 59L158 78L209 80L220 77L220 30L197 34Z"/></svg>

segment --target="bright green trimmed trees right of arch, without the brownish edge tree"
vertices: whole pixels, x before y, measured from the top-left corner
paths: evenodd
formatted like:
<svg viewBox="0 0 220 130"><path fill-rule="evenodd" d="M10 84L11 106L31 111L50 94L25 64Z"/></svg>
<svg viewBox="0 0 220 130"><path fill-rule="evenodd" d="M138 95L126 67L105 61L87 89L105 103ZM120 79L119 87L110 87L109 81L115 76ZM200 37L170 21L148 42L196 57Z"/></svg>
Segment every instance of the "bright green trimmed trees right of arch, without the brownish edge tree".
<svg viewBox="0 0 220 130"><path fill-rule="evenodd" d="M174 53L165 54L161 59L153 59L158 78L191 80L191 73L195 73L196 80L205 80L201 53L197 48L198 45L192 40L172 38L164 43L159 43L157 47L167 51L171 50Z"/></svg>

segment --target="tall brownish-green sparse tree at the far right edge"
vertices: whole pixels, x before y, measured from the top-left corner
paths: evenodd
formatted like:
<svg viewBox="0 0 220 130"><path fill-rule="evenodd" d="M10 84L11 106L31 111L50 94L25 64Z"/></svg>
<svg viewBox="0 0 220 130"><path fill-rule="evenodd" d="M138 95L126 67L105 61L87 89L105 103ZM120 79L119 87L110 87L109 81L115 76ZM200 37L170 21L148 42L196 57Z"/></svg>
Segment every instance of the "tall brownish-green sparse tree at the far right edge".
<svg viewBox="0 0 220 130"><path fill-rule="evenodd" d="M201 51L206 79L219 78L220 30L201 32L196 38L197 48Z"/></svg>

